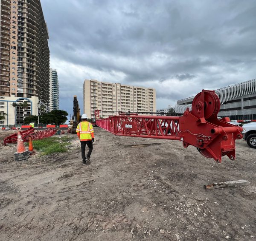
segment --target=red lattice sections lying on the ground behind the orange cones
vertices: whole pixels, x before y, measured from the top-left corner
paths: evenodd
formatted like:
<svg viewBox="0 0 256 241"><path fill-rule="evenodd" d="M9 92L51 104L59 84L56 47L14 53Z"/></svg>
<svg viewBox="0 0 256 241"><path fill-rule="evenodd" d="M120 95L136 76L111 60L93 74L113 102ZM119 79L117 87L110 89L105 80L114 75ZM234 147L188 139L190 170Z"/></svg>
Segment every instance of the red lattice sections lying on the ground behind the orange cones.
<svg viewBox="0 0 256 241"><path fill-rule="evenodd" d="M55 135L56 131L56 129L38 131L31 127L27 130L20 131L20 135L23 139L23 142L29 142L29 137L31 137L32 140L40 140ZM3 139L3 144L5 146L7 143L17 143L17 133L7 136L5 139Z"/></svg>

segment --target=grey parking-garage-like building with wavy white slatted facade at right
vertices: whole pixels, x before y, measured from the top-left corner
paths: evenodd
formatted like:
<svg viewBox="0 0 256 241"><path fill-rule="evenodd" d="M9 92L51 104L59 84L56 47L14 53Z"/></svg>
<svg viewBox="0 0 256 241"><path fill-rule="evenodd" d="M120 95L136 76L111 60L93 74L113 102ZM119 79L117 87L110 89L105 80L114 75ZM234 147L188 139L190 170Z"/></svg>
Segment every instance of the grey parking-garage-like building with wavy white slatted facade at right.
<svg viewBox="0 0 256 241"><path fill-rule="evenodd" d="M233 121L256 121L256 79L230 85L215 90L221 101L219 117L229 117ZM177 100L176 113L191 110L195 96Z"/></svg>

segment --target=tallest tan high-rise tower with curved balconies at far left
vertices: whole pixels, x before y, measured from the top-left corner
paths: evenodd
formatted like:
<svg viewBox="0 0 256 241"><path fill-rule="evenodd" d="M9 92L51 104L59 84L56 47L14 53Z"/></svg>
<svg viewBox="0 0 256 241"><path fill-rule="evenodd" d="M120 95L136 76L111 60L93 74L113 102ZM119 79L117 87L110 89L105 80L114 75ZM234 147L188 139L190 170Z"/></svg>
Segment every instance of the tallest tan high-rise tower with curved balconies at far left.
<svg viewBox="0 0 256 241"><path fill-rule="evenodd" d="M1 0L0 20L0 100L35 96L34 114L48 112L49 36L40 0Z"/></svg>

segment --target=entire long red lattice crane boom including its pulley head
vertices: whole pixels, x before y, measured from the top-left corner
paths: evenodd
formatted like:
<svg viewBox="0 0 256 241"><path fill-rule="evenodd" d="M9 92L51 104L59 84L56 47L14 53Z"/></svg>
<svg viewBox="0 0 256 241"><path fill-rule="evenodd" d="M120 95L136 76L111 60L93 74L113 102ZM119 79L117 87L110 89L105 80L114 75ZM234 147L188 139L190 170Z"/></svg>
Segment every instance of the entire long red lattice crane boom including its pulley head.
<svg viewBox="0 0 256 241"><path fill-rule="evenodd" d="M235 140L242 128L218 119L220 100L214 91L202 90L192 102L192 111L183 116L110 116L96 124L116 136L179 140L183 147L193 145L207 158L221 163L227 155L236 158Z"/></svg>

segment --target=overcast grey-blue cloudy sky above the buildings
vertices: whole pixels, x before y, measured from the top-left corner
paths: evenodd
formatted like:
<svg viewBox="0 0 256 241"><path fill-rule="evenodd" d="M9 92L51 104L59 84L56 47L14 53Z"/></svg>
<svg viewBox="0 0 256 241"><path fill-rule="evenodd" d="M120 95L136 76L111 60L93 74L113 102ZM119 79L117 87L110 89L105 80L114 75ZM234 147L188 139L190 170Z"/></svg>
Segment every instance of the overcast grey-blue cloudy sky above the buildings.
<svg viewBox="0 0 256 241"><path fill-rule="evenodd" d="M60 109L84 79L157 90L157 108L256 78L255 0L41 0ZM82 111L81 111L82 112Z"/></svg>

